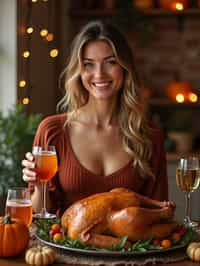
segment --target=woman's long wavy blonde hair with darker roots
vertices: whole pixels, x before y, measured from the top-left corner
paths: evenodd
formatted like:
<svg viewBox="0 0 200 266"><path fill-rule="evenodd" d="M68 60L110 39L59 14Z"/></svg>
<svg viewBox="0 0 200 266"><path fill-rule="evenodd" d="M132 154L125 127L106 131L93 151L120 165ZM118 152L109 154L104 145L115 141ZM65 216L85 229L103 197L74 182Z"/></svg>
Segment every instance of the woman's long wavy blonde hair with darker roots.
<svg viewBox="0 0 200 266"><path fill-rule="evenodd" d="M110 44L116 60L124 70L124 83L118 96L117 112L124 150L131 155L133 166L140 174L153 176L150 163L151 130L138 97L141 85L135 71L132 51L124 36L111 24L102 21L89 22L72 43L69 61L63 71L65 95L59 102L61 110L67 112L65 125L72 121L80 107L87 104L88 91L83 87L80 78L82 50L85 44L96 40L105 40Z"/></svg>

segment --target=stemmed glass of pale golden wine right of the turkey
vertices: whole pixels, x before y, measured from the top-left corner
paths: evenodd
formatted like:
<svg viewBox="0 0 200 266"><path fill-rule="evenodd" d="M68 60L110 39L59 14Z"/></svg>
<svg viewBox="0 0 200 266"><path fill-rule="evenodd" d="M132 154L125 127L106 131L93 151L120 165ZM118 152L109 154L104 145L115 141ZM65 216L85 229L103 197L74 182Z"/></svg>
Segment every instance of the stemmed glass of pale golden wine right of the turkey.
<svg viewBox="0 0 200 266"><path fill-rule="evenodd" d="M179 159L176 169L176 183L180 190L185 193L184 224L187 227L195 227L198 224L190 218L190 194L198 188L200 183L200 163L198 157Z"/></svg>

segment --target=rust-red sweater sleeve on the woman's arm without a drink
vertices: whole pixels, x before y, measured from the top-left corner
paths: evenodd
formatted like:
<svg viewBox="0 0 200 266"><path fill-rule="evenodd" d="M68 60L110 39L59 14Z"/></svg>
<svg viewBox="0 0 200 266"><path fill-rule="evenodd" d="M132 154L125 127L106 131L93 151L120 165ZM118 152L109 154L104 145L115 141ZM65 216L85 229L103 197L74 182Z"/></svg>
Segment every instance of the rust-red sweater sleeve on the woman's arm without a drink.
<svg viewBox="0 0 200 266"><path fill-rule="evenodd" d="M164 149L164 137L160 130L153 134L152 168L154 180L145 182L145 195L156 200L168 200L167 161Z"/></svg>

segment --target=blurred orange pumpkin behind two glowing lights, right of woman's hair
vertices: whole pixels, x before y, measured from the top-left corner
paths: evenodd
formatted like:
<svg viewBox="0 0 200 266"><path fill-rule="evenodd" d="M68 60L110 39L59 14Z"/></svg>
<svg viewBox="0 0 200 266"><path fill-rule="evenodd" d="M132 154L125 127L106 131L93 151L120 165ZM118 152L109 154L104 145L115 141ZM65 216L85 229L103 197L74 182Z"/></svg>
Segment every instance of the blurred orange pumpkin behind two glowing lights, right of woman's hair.
<svg viewBox="0 0 200 266"><path fill-rule="evenodd" d="M186 81L171 81L166 89L166 95L172 100L176 101L177 94L182 94L188 100L189 93L192 92L192 86Z"/></svg>

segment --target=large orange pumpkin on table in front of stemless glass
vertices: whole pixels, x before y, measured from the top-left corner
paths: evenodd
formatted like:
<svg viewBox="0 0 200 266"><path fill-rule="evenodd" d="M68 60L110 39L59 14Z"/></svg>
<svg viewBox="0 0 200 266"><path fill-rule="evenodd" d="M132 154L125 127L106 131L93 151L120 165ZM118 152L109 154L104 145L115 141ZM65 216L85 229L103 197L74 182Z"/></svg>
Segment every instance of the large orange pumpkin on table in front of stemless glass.
<svg viewBox="0 0 200 266"><path fill-rule="evenodd" d="M0 257L21 254L29 242L28 227L9 215L0 217Z"/></svg>

